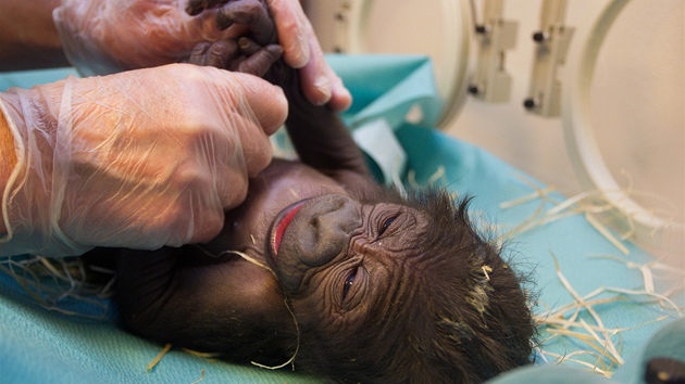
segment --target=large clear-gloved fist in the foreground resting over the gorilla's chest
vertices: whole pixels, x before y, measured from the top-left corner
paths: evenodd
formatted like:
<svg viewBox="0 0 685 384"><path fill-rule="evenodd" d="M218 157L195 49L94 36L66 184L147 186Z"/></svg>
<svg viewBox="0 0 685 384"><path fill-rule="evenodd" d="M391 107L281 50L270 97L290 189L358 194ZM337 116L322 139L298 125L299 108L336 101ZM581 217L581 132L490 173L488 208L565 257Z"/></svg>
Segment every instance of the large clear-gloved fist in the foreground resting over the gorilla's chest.
<svg viewBox="0 0 685 384"><path fill-rule="evenodd" d="M15 137L0 255L78 255L213 239L271 161L283 91L172 64L0 93Z"/></svg>

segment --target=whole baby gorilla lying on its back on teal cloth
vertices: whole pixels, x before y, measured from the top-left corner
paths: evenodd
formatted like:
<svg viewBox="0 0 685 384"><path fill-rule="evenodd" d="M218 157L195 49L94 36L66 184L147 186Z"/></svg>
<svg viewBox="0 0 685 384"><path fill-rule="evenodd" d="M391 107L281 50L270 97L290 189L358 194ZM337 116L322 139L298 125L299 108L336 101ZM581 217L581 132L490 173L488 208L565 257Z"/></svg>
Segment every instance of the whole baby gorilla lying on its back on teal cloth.
<svg viewBox="0 0 685 384"><path fill-rule="evenodd" d="M248 29L271 20L260 1L228 4L221 17ZM351 383L475 383L528 363L526 296L466 202L374 182L338 117L306 101L296 71L272 66L275 40L249 37L198 47L191 62L269 69L299 162L274 159L250 180L208 244L116 251L123 327L233 361L295 357Z"/></svg>

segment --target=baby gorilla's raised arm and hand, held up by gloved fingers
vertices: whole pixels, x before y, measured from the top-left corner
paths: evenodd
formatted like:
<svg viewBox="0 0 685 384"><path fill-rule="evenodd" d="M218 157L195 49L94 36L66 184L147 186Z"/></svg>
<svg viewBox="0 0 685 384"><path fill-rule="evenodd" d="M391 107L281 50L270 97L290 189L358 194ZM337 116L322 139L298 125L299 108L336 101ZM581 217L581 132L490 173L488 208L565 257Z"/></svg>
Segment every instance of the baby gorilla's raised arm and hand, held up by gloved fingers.
<svg viewBox="0 0 685 384"><path fill-rule="evenodd" d="M300 72L279 60L283 49L276 34L254 30L275 30L266 4L258 0L232 3L222 12L231 23L246 23L252 33L238 41L200 43L190 55L190 63L212 65L228 71L264 77L281 86L289 103L286 127L302 163L333 176L342 183L357 183L360 176L370 176L365 159L348 129L327 105L311 104L300 87ZM348 179L353 177L356 179ZM370 180L364 180L370 181Z"/></svg>

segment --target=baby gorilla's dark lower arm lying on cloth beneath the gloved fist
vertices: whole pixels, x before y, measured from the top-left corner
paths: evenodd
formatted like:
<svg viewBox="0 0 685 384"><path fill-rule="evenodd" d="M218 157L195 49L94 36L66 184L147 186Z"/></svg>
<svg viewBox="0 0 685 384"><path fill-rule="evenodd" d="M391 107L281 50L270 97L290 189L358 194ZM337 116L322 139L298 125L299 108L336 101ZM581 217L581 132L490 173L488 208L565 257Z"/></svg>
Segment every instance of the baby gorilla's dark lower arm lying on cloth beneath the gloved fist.
<svg viewBox="0 0 685 384"><path fill-rule="evenodd" d="M258 356L276 363L291 353L296 331L271 273L232 256L203 257L191 247L120 251L114 299L122 325L238 362Z"/></svg>

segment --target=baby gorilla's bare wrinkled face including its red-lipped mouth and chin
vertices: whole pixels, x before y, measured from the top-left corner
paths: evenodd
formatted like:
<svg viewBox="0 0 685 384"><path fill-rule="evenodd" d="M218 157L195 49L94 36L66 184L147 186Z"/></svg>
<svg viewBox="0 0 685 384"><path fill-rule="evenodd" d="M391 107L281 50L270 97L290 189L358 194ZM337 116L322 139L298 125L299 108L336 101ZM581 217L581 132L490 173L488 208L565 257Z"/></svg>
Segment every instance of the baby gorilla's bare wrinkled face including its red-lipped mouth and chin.
<svg viewBox="0 0 685 384"><path fill-rule="evenodd" d="M427 221L371 179L347 188L301 163L275 161L202 247L240 251L266 264L286 297L338 313L339 325L344 313L363 313L390 280L407 273Z"/></svg>

